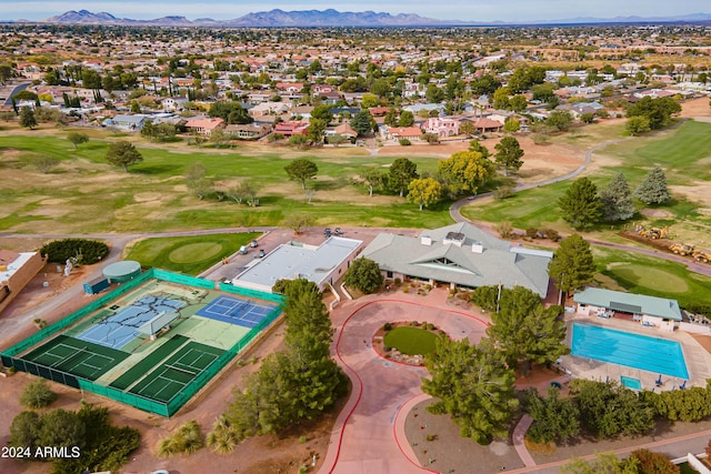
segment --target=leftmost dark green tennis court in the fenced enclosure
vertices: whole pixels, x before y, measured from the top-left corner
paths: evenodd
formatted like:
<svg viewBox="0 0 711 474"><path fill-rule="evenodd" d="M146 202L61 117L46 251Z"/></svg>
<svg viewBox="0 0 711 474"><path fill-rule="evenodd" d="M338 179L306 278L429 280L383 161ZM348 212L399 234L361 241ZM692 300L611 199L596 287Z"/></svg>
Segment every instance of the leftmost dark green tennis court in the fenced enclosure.
<svg viewBox="0 0 711 474"><path fill-rule="evenodd" d="M23 359L94 381L128 356L126 352L59 335Z"/></svg>

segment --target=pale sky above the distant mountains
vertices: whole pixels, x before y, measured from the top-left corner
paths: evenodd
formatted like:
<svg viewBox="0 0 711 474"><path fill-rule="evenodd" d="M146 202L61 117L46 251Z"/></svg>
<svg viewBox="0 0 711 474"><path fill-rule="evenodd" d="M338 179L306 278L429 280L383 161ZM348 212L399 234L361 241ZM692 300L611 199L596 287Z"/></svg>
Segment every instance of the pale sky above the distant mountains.
<svg viewBox="0 0 711 474"><path fill-rule="evenodd" d="M360 1L246 1L212 0L0 0L0 20L42 20L69 10L106 11L120 18L152 19L169 14L227 20L243 14L280 8L282 10L417 13L441 20L467 21L550 21L579 17L618 16L664 17L710 12L709 0L360 0Z"/></svg>

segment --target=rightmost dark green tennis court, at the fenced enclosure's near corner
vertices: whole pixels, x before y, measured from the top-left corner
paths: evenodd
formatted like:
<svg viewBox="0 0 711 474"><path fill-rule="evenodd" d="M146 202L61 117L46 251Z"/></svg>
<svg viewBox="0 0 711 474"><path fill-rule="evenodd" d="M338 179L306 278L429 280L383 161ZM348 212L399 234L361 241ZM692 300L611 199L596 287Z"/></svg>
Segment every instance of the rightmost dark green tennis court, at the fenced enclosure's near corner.
<svg viewBox="0 0 711 474"><path fill-rule="evenodd" d="M210 345L189 342L141 379L129 392L168 402L223 353L224 351Z"/></svg>

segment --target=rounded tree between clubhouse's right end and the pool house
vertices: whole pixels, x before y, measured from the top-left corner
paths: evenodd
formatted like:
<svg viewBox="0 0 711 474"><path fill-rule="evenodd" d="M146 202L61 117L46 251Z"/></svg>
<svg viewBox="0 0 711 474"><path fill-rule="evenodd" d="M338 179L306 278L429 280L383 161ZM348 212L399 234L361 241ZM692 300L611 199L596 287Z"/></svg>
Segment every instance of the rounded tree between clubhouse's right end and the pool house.
<svg viewBox="0 0 711 474"><path fill-rule="evenodd" d="M590 244L579 234L563 239L548 264L548 274L567 294L590 283L595 271Z"/></svg>

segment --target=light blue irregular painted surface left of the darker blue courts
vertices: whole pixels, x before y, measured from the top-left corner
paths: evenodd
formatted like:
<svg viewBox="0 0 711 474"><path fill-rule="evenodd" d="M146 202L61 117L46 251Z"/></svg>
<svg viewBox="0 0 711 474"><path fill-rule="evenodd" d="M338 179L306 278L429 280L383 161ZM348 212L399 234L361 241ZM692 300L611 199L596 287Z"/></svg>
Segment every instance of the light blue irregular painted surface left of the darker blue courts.
<svg viewBox="0 0 711 474"><path fill-rule="evenodd" d="M82 341L121 349L140 333L138 329L160 314L177 312L184 302L161 296L143 296L118 313L99 321L77 336Z"/></svg>

